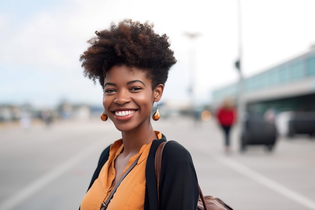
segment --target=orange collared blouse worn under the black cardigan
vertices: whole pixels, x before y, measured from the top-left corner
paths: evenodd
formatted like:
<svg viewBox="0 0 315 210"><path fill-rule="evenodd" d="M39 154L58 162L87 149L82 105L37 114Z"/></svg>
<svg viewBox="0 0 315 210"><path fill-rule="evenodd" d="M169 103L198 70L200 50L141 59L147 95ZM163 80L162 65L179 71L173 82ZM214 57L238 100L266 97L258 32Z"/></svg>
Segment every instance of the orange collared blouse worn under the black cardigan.
<svg viewBox="0 0 315 210"><path fill-rule="evenodd" d="M161 132L155 131L155 133L159 139L162 138ZM107 210L143 210L146 184L145 166L151 144L143 145L139 153L129 159L122 174L140 155L137 165L128 173L117 188L108 204ZM113 189L111 185L116 177L114 163L122 150L122 139L119 139L111 146L108 161L102 167L99 177L84 196L81 203L81 210L100 210L102 202L105 202Z"/></svg>

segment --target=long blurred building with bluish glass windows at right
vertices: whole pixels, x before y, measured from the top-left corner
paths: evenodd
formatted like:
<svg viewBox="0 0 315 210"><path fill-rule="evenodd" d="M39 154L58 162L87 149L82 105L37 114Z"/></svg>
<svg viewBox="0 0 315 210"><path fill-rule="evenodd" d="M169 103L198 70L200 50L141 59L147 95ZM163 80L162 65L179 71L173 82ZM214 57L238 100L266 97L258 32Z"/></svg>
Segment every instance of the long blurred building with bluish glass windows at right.
<svg viewBox="0 0 315 210"><path fill-rule="evenodd" d="M245 111L315 111L315 46L300 56L212 93L213 106L240 97Z"/></svg>

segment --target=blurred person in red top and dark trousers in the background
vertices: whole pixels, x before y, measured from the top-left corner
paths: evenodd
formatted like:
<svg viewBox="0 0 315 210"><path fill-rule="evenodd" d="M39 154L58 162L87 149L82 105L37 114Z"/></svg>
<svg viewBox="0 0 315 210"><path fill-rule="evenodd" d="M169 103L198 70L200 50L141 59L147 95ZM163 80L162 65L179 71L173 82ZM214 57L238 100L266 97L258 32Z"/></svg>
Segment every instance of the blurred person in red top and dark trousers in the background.
<svg viewBox="0 0 315 210"><path fill-rule="evenodd" d="M224 134L224 151L230 152L230 130L237 121L237 111L234 108L231 98L225 98L222 105L216 111L219 126Z"/></svg>

